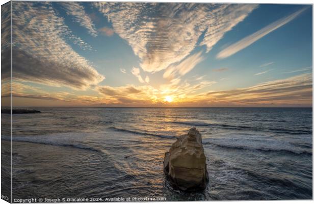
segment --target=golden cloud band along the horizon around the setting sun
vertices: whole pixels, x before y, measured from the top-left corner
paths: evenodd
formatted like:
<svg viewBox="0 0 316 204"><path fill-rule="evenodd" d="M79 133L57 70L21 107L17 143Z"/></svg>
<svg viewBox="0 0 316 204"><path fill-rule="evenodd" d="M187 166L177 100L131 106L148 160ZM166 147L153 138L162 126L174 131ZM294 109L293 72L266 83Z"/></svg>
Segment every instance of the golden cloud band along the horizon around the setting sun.
<svg viewBox="0 0 316 204"><path fill-rule="evenodd" d="M197 81L190 84L161 85L155 89L150 85L96 86L99 96L83 96L67 92L45 92L22 83L13 83L13 96L33 99L67 101L73 104L107 104L108 106L311 106L312 75L259 83L241 89L207 91L215 81ZM164 102L171 96L172 104Z"/></svg>

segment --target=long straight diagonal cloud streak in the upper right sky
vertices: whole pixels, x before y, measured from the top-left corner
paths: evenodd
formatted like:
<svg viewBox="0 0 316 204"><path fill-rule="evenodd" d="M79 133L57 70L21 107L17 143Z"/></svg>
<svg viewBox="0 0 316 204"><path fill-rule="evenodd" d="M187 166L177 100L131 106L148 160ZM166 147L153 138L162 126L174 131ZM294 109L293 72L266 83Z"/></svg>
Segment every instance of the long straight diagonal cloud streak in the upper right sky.
<svg viewBox="0 0 316 204"><path fill-rule="evenodd" d="M261 28L261 30L251 34L250 36L247 36L246 38L228 46L227 48L223 49L222 51L220 51L216 57L218 59L224 59L230 55L233 55L234 53L248 47L249 45L251 45L252 43L256 42L257 40L259 40L260 38L268 35L269 33L271 33L272 31L276 30L277 28L285 25L286 23L292 21L293 19L295 19L296 17L298 17L303 11L305 11L307 9L307 7L300 9L299 11L286 16L284 18L281 18L271 24L269 24L268 26Z"/></svg>

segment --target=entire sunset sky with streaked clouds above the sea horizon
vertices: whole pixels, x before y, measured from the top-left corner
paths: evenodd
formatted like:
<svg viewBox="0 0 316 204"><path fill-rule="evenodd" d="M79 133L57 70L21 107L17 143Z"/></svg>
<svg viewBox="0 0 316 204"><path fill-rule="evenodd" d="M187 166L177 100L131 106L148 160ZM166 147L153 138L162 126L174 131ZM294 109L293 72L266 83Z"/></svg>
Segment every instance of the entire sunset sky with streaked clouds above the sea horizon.
<svg viewBox="0 0 316 204"><path fill-rule="evenodd" d="M13 2L12 29L14 106L312 106L311 5Z"/></svg>

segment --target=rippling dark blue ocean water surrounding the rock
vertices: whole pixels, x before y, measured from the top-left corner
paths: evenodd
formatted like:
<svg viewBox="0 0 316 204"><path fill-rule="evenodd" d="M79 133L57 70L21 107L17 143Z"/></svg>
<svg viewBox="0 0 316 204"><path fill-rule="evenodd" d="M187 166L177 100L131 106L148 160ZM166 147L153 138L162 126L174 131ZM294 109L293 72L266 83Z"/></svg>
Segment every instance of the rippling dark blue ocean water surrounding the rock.
<svg viewBox="0 0 316 204"><path fill-rule="evenodd" d="M13 115L13 199L312 199L312 108L32 109ZM209 183L185 193L163 160L192 127Z"/></svg>

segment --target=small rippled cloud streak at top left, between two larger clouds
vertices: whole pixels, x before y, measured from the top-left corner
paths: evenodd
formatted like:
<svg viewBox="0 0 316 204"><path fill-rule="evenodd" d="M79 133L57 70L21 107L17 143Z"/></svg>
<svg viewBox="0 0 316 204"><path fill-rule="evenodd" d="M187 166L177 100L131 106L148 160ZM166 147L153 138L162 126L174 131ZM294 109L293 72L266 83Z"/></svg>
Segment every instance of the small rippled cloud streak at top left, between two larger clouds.
<svg viewBox="0 0 316 204"><path fill-rule="evenodd" d="M85 7L79 2L61 2L59 3L66 10L67 15L71 15L73 21L79 23L81 26L87 28L89 34L93 37L97 36L97 31L90 18L85 12Z"/></svg>

